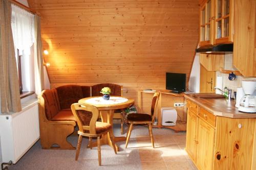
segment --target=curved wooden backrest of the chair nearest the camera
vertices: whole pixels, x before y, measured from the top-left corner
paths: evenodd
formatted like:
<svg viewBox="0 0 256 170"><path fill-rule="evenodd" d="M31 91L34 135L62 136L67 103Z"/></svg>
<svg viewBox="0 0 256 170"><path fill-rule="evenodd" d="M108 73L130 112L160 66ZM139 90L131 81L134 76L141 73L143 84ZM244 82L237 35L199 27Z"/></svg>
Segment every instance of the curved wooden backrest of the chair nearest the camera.
<svg viewBox="0 0 256 170"><path fill-rule="evenodd" d="M71 105L79 131L83 133L96 134L96 121L99 117L97 107L87 104L74 103Z"/></svg>

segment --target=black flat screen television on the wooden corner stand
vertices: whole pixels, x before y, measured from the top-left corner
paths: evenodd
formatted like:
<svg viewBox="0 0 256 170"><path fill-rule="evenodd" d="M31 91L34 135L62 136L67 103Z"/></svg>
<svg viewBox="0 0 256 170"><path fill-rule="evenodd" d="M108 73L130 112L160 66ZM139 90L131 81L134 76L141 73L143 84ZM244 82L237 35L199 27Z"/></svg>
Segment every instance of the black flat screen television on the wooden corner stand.
<svg viewBox="0 0 256 170"><path fill-rule="evenodd" d="M186 74L166 72L166 89L177 93L186 91Z"/></svg>

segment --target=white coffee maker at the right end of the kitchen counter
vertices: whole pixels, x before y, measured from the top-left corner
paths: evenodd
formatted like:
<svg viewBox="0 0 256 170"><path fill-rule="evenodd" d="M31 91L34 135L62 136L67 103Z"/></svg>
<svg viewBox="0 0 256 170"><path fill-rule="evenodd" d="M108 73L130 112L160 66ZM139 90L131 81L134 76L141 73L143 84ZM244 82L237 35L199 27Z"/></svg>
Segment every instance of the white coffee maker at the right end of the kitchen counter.
<svg viewBox="0 0 256 170"><path fill-rule="evenodd" d="M247 113L256 113L256 95L253 92L256 87L256 81L253 80L243 80L242 88L244 95L240 100L240 105L238 107L239 111Z"/></svg>

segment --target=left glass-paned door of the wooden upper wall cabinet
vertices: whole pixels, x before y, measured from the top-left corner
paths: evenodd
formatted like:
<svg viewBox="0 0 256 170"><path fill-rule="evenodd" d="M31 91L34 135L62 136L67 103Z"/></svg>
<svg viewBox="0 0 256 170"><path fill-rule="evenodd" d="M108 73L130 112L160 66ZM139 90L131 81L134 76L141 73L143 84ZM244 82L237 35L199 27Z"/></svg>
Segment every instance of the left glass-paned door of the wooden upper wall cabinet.
<svg viewBox="0 0 256 170"><path fill-rule="evenodd" d="M200 45L212 44L211 20L211 0L208 0L200 8Z"/></svg>

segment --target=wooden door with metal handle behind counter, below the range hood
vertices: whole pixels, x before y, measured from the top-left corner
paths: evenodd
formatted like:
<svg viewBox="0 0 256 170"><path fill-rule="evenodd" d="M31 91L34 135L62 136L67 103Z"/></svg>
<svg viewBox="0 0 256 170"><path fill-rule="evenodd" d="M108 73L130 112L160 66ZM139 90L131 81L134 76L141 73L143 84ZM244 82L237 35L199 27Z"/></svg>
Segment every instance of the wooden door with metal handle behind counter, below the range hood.
<svg viewBox="0 0 256 170"><path fill-rule="evenodd" d="M214 93L215 71L207 71L200 64L200 93Z"/></svg>

